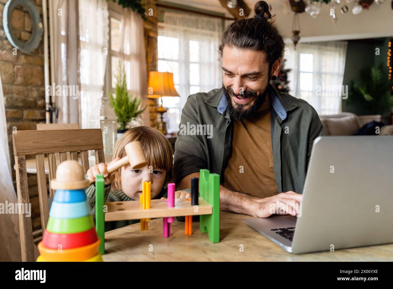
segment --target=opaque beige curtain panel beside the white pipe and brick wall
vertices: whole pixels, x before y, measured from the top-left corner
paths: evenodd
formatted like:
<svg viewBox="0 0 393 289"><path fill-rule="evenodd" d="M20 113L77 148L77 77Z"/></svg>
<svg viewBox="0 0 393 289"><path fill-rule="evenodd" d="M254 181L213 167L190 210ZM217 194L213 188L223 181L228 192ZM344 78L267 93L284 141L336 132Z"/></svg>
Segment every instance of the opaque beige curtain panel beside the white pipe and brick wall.
<svg viewBox="0 0 393 289"><path fill-rule="evenodd" d="M81 0L79 2L84 2ZM51 0L50 11L50 47L51 47L51 83L55 87L71 85L72 90L62 90L62 95L52 96L53 104L59 110L58 123L79 123L80 101L77 86L78 79L78 0ZM54 87L53 87L54 86ZM75 92L75 93L74 93ZM64 95L65 94L65 95ZM74 95L75 94L75 95Z"/></svg>

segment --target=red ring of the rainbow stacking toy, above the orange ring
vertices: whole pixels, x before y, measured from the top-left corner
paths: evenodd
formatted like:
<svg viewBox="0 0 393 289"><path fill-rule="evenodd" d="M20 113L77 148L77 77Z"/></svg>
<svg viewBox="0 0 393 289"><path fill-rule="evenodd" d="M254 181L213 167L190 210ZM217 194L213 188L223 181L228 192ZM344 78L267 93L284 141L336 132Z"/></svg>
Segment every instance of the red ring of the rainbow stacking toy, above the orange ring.
<svg viewBox="0 0 393 289"><path fill-rule="evenodd" d="M55 234L45 230L42 245L50 249L72 249L90 245L98 240L95 228L73 234Z"/></svg>

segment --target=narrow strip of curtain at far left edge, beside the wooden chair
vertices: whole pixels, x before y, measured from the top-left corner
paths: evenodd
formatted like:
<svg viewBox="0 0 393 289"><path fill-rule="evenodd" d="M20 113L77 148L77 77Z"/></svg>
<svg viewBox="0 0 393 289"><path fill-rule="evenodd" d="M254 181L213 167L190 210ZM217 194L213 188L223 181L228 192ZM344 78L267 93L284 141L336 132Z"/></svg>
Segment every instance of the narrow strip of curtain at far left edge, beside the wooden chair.
<svg viewBox="0 0 393 289"><path fill-rule="evenodd" d="M9 159L6 112L4 109L3 87L0 77L0 203L15 204L17 195L12 183ZM7 207L5 207L7 210ZM0 215L0 261L22 261L19 239L18 214Z"/></svg>

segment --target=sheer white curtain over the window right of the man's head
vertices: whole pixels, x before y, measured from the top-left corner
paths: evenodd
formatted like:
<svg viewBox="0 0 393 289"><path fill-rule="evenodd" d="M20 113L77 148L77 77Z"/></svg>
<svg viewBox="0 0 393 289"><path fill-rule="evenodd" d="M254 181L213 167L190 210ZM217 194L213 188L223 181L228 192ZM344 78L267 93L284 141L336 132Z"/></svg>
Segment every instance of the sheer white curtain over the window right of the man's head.
<svg viewBox="0 0 393 289"><path fill-rule="evenodd" d="M286 42L285 68L292 96L305 99L318 114L341 112L342 84L347 54L346 41Z"/></svg>

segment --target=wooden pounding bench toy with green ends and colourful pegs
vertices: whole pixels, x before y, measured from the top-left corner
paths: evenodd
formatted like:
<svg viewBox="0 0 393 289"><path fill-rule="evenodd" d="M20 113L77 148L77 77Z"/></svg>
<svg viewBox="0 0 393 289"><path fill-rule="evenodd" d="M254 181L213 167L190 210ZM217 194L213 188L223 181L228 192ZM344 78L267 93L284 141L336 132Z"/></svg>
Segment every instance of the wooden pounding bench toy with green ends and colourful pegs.
<svg viewBox="0 0 393 289"><path fill-rule="evenodd" d="M197 179L197 178L196 178ZM141 219L141 230L147 230L147 221L152 218L163 218L163 237L171 236L171 223L174 217L186 216L188 222L185 222L185 234L191 231L192 216L199 215L200 230L202 233L208 233L209 240L212 243L220 241L220 176L210 173L207 169L200 170L199 198L197 190L193 190L195 205L191 199L176 199L174 201L174 186L168 184L167 200L150 200L150 186L148 182L143 184L143 191L140 202L105 202L104 203L104 178L102 175L96 176L95 181L95 228L98 236L101 238L100 252L105 254L104 243L104 225L105 221L121 221ZM104 208L105 210L97 210ZM105 212L104 212L105 211ZM190 234L191 235L191 234Z"/></svg>

